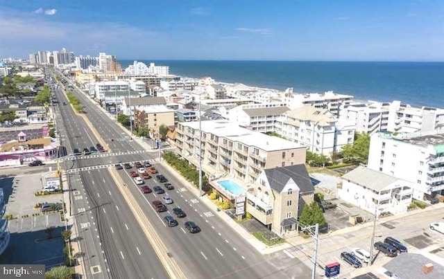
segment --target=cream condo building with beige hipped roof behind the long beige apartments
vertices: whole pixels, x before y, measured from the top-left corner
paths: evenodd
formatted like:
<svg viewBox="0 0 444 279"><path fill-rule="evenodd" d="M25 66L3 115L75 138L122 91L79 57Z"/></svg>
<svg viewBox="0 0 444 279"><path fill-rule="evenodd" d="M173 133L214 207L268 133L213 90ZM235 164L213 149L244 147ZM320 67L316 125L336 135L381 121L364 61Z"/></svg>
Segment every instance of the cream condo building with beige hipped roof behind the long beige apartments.
<svg viewBox="0 0 444 279"><path fill-rule="evenodd" d="M306 106L285 112L276 122L275 132L299 143L310 152L331 156L355 138L352 121L339 121L327 109Z"/></svg>

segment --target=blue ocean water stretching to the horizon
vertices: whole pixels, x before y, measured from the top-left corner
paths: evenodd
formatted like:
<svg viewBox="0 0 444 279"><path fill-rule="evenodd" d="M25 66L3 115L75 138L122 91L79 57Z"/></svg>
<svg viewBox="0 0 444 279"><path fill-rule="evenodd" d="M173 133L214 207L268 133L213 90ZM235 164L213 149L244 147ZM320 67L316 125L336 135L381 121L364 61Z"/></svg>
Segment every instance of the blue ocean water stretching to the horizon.
<svg viewBox="0 0 444 279"><path fill-rule="evenodd" d="M295 93L334 91L357 100L444 108L444 62L291 62L291 61L187 61L138 60L169 66L170 73L220 82ZM133 60L121 60L122 68Z"/></svg>

